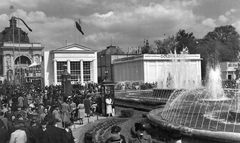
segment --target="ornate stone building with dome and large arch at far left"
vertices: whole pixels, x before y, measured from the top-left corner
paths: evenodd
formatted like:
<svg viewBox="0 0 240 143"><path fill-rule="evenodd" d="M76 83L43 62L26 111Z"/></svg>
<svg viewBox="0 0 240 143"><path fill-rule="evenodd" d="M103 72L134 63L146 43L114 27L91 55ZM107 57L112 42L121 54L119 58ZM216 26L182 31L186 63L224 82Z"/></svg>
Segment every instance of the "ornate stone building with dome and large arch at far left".
<svg viewBox="0 0 240 143"><path fill-rule="evenodd" d="M40 74L32 73L29 66L41 63L44 47L40 43L30 42L28 33L17 27L17 19L19 18L12 17L9 20L10 26L0 33L1 82L7 80L11 83L22 83L41 78Z"/></svg>

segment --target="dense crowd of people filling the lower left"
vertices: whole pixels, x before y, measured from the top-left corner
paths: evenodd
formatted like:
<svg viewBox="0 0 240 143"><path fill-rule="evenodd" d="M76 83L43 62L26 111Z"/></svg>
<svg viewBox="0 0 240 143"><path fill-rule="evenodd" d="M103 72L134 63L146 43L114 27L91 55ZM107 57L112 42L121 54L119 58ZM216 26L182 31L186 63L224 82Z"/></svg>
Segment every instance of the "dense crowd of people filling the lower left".
<svg viewBox="0 0 240 143"><path fill-rule="evenodd" d="M98 89L89 87L75 87L75 93L63 96L60 86L2 86L0 142L74 143L74 121L83 124L83 118L96 111L89 91Z"/></svg>

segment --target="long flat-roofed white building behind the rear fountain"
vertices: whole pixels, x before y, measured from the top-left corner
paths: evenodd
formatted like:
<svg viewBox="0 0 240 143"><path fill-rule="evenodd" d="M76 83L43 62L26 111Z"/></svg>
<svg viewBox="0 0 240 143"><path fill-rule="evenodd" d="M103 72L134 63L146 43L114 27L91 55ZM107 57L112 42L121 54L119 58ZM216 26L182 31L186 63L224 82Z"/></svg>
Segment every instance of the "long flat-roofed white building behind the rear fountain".
<svg viewBox="0 0 240 143"><path fill-rule="evenodd" d="M115 82L156 83L158 88L201 86L199 54L143 54L113 61Z"/></svg>

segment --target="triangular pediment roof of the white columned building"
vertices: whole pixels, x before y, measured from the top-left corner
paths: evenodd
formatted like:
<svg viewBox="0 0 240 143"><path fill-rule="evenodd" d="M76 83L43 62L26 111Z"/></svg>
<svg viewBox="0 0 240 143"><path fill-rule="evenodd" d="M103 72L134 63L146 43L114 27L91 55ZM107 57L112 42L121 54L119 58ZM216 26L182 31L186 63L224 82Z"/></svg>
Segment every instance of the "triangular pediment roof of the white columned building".
<svg viewBox="0 0 240 143"><path fill-rule="evenodd" d="M96 50L93 50L89 47L80 45L80 44L71 44L56 50L52 50L53 53L62 53L62 52L77 52L77 53L94 53Z"/></svg>

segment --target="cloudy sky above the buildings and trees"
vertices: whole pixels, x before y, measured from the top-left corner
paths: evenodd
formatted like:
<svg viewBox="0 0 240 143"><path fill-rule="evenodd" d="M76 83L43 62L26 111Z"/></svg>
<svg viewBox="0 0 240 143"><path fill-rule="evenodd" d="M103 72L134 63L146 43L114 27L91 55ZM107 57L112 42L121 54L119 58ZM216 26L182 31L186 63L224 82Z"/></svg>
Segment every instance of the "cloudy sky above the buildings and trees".
<svg viewBox="0 0 240 143"><path fill-rule="evenodd" d="M126 50L143 45L144 39L153 44L179 29L197 38L221 25L233 25L240 33L239 8L240 0L1 0L0 31L15 15L33 30L19 23L30 41L45 50L80 43L99 51L111 39ZM85 35L75 28L79 19Z"/></svg>

